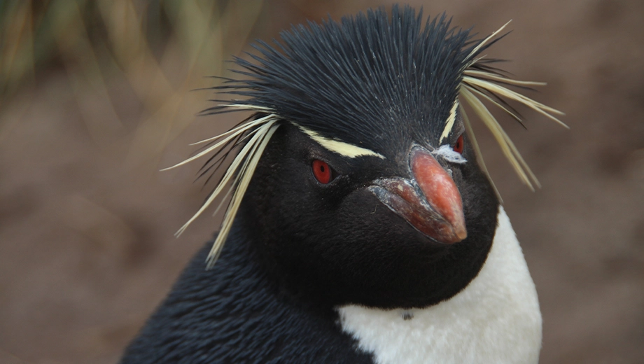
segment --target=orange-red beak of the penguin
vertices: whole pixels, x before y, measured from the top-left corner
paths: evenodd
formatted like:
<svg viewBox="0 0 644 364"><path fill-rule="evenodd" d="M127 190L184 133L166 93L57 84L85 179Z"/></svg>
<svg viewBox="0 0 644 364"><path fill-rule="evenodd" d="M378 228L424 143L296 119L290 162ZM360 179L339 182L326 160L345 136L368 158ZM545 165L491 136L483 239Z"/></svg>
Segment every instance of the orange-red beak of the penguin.
<svg viewBox="0 0 644 364"><path fill-rule="evenodd" d="M454 180L425 148L412 148L409 167L412 179L379 179L368 190L428 237L444 244L465 239L463 202Z"/></svg>

